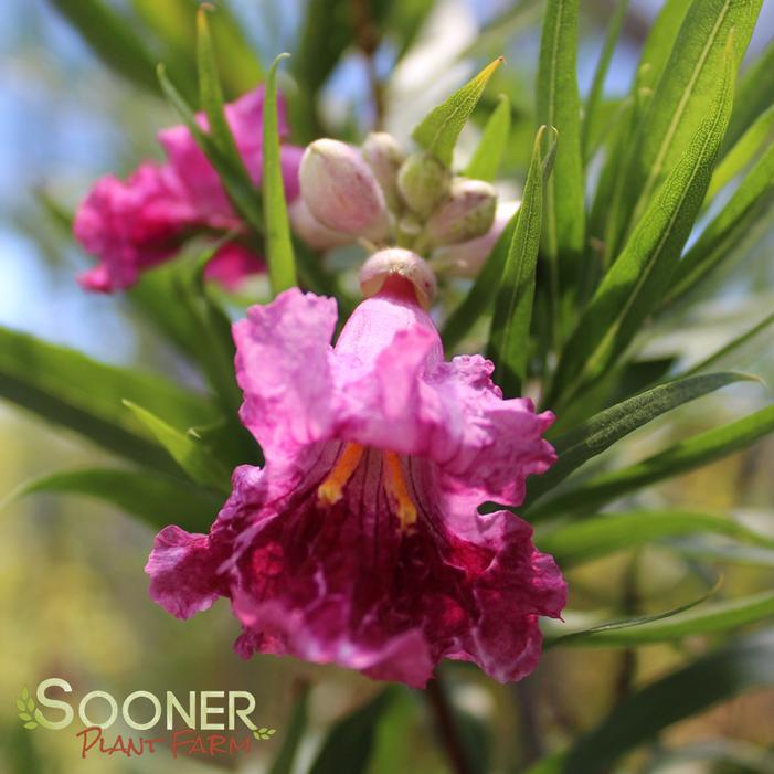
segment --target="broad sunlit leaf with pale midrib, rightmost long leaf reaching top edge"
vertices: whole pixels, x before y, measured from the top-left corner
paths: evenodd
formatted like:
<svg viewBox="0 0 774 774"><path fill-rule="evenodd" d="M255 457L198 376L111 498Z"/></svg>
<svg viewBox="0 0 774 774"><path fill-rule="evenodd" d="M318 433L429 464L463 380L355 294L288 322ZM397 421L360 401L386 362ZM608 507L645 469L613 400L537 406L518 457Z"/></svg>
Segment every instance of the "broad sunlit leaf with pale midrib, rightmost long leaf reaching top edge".
<svg viewBox="0 0 774 774"><path fill-rule="evenodd" d="M639 126L626 185L630 200L636 202L630 209L633 226L640 218L647 220L645 213L650 211L654 192L664 176L691 147L706 116L717 112L717 84L730 79L728 88L733 88L761 2L695 0L691 3L665 67L668 77L655 84ZM724 130L725 126L721 139Z"/></svg>

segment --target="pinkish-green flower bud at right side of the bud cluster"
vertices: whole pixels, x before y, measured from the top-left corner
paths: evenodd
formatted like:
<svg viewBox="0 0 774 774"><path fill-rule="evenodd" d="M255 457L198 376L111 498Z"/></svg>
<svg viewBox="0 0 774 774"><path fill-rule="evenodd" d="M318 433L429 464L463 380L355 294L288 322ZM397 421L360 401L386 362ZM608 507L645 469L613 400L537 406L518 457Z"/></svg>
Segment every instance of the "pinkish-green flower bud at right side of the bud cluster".
<svg viewBox="0 0 774 774"><path fill-rule="evenodd" d="M486 234L497 210L497 191L483 180L455 178L452 191L431 215L425 226L436 245L467 242Z"/></svg>

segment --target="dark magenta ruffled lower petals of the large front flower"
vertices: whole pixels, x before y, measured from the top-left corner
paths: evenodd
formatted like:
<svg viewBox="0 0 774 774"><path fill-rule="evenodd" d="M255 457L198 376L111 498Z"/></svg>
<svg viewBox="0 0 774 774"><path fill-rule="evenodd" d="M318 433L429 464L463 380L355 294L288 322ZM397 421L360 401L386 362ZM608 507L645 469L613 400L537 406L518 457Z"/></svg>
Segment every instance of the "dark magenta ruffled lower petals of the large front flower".
<svg viewBox="0 0 774 774"><path fill-rule="evenodd" d="M463 538L427 503L403 534L380 488L381 455L368 455L333 507L318 502L320 474L278 496L265 473L241 469L210 538L159 536L153 598L183 617L230 596L243 657L291 655L413 687L442 658L503 682L529 674L538 617L558 616L566 595L530 527L508 512L474 513Z"/></svg>

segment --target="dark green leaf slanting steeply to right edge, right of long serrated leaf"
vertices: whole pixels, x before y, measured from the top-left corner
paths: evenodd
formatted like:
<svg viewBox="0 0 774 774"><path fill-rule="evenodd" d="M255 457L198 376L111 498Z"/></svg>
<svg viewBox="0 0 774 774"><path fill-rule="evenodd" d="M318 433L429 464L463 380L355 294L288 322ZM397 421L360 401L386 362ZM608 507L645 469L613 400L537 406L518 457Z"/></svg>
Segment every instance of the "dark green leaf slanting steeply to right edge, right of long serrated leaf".
<svg viewBox="0 0 774 774"><path fill-rule="evenodd" d="M739 243L774 202L774 144L734 191L728 204L701 232L692 247L677 265L665 303L671 304L728 259Z"/></svg>

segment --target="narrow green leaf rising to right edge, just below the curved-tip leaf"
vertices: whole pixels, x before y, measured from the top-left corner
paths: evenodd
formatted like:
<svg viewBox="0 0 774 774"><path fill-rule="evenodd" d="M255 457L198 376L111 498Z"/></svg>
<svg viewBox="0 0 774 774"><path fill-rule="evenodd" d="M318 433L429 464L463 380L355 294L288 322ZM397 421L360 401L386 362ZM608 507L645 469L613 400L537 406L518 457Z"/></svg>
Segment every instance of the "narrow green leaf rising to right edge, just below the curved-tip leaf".
<svg viewBox="0 0 774 774"><path fill-rule="evenodd" d="M596 510L606 502L657 481L708 465L733 454L774 431L774 405L686 441L642 463L601 474L544 505L532 508L530 520L576 510Z"/></svg>

